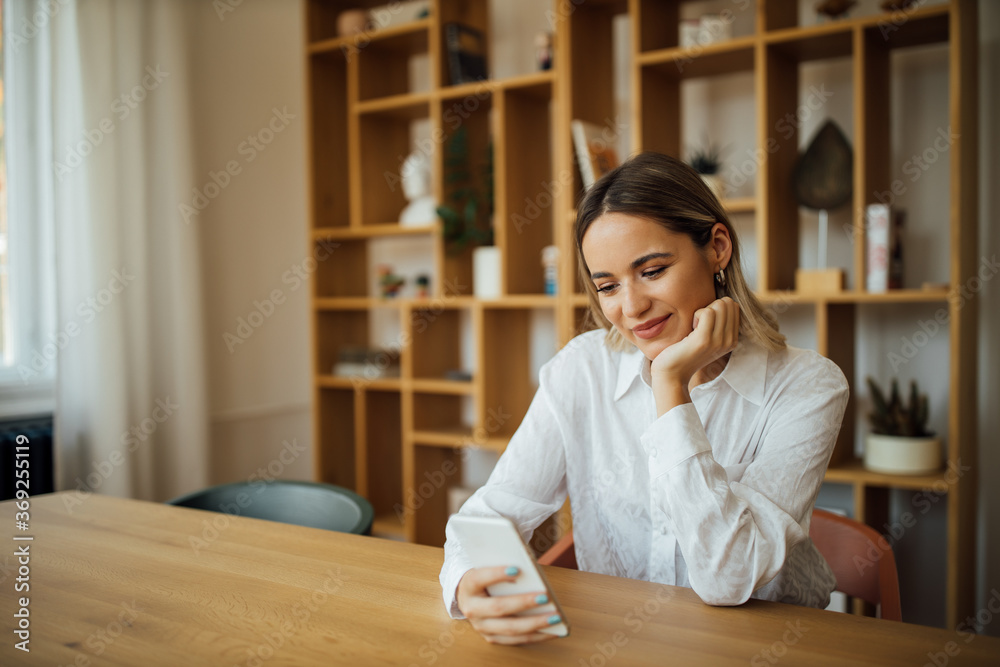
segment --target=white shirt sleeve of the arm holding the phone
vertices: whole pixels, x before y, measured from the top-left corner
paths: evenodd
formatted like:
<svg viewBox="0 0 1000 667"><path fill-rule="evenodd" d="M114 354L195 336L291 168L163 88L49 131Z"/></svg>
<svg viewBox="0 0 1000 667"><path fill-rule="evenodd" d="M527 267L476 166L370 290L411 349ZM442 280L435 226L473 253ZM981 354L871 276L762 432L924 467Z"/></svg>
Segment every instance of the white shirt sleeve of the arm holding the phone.
<svg viewBox="0 0 1000 667"><path fill-rule="evenodd" d="M520 427L489 480L459 512L468 516L507 517L518 527L525 542L566 500L565 436L552 401L566 378L559 376L556 361L553 359L542 367L538 391ZM472 566L452 532L450 521L445 536L441 590L449 615L460 619L464 616L455 594L459 581Z"/></svg>

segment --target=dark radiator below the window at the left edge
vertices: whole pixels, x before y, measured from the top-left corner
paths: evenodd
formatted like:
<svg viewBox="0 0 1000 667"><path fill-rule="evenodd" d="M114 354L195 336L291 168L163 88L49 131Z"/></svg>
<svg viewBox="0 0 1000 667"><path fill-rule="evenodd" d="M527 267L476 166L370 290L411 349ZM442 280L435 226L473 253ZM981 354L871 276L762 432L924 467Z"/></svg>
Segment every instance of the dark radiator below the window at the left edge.
<svg viewBox="0 0 1000 667"><path fill-rule="evenodd" d="M17 436L28 442L18 444ZM22 442L24 441L22 438ZM17 447L28 448L28 495L55 491L55 468L52 459L52 415L0 421L0 500L10 500L18 487L14 465ZM21 450L24 453L25 450ZM23 457L22 457L23 458ZM22 464L21 470L24 470ZM22 479L24 479L22 473ZM20 488L24 488L22 483Z"/></svg>

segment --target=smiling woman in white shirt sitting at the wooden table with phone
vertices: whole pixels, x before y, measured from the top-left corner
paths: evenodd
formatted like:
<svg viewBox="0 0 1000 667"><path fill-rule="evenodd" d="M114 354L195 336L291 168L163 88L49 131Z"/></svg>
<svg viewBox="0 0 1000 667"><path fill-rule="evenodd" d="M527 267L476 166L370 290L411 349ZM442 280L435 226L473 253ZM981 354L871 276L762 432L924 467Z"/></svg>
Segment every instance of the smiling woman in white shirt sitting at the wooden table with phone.
<svg viewBox="0 0 1000 667"><path fill-rule="evenodd" d="M462 514L527 540L569 495L581 570L688 586L708 604L824 607L833 574L809 521L848 399L843 373L785 345L754 297L725 211L693 169L643 153L587 192L581 275L602 324L541 370L524 421ZM485 639L551 639L492 598L448 534L445 605Z"/></svg>

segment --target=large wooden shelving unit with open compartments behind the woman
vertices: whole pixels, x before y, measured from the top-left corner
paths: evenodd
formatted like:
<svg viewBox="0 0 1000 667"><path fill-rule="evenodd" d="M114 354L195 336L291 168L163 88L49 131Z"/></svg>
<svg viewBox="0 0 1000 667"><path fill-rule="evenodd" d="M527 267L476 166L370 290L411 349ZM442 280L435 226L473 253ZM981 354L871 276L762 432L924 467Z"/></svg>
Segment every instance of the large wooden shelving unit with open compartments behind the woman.
<svg viewBox="0 0 1000 667"><path fill-rule="evenodd" d="M754 216L757 285L765 303L812 307L818 350L837 362L852 386L858 309L870 305L940 304L949 313L947 460L975 460L976 313L949 299L947 289L869 294L855 284L837 294L794 290L799 212L790 191L799 136L776 133L799 103L804 63L849 58L852 63L857 229L853 275L864 275L865 207L885 191L891 119L890 55L896 49L946 44L949 123L959 139L948 151L950 216L941 244L949 248L950 284L972 275L977 227L977 33L974 0L916 9L905 21L865 16L800 26L797 2L756 0L753 34L695 49L678 46L683 2L589 0L540 3L552 17L554 69L460 86L448 85L444 26L460 21L489 36L487 0L432 0L430 16L358 38L337 37L340 11L379 1L308 0L306 61L311 155L309 243L336 243L313 280L313 364L317 477L354 488L376 509L375 529L411 541L444 540L447 490L461 478L462 453L474 446L501 452L534 394L531 322L539 311L555 320L556 346L580 332L586 298L576 276L572 220L582 186L570 122L607 124L615 117L612 22L631 25L629 132L634 150L680 155L682 83L751 73L758 146L774 146L757 174L755 195L724 202ZM544 4L544 6L541 6ZM898 17L895 17L898 18ZM489 39L489 37L488 37ZM410 72L429 85L411 85ZM401 158L413 148L415 122L430 126L434 182L447 199L441 146L465 128L472 156L494 155L494 230L501 250L502 296L471 296L471 253L452 254L438 224L411 229L395 221L405 206ZM794 128L793 128L794 129ZM482 165L474 165L474 169ZM525 202L537 213L523 224ZM534 212L534 211L533 211ZM426 239L433 247L433 294L385 300L371 292L372 244L386 238ZM540 253L560 250L559 290L544 294ZM860 283L860 280L855 281ZM338 351L373 339L371 317L398 315L401 377L377 380L331 375ZM397 321L397 320L393 320ZM475 349L463 351L471 330ZM472 357L471 381L444 373ZM469 410L468 402L472 402ZM501 407L510 418L496 420ZM474 414L471 423L469 413ZM891 489L928 489L947 496L947 624L973 611L975 471L955 480L944 471L918 477L879 475L855 458L855 401L848 408L827 480L853 488L857 518L881 529Z"/></svg>

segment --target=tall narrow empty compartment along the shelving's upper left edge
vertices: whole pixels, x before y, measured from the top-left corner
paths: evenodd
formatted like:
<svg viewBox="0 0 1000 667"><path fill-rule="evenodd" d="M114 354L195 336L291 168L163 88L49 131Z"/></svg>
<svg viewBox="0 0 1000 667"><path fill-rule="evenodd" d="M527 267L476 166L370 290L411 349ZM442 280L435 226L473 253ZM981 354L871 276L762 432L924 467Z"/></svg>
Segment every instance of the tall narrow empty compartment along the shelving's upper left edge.
<svg viewBox="0 0 1000 667"><path fill-rule="evenodd" d="M333 55L312 58L308 73L311 222L313 227L343 228L348 205L347 66Z"/></svg>

